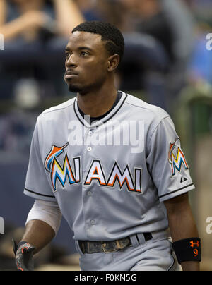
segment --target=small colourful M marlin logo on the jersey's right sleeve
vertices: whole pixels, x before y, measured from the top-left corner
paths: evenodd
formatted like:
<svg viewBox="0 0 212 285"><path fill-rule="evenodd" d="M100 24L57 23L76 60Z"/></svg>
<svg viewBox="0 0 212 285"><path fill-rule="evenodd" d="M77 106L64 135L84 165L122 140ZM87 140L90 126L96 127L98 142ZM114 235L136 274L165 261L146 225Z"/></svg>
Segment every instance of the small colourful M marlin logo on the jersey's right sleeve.
<svg viewBox="0 0 212 285"><path fill-rule="evenodd" d="M172 175L175 175L175 169L177 169L177 171L181 171L182 169L182 164L184 164L184 168L185 169L189 169L189 166L187 164L187 161L184 157L184 154L182 152L182 150L177 147L176 145L176 141L174 143L170 143L170 151L169 151L169 162L171 164L172 167Z"/></svg>

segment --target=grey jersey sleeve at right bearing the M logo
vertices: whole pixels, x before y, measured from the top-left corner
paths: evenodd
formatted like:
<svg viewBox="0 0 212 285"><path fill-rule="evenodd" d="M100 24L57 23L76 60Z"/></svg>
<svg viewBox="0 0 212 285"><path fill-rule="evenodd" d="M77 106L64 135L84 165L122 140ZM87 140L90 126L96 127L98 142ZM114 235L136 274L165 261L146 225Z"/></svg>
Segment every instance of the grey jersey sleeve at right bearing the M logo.
<svg viewBox="0 0 212 285"><path fill-rule="evenodd" d="M158 124L148 141L147 164L160 202L194 189L179 137L170 117Z"/></svg>

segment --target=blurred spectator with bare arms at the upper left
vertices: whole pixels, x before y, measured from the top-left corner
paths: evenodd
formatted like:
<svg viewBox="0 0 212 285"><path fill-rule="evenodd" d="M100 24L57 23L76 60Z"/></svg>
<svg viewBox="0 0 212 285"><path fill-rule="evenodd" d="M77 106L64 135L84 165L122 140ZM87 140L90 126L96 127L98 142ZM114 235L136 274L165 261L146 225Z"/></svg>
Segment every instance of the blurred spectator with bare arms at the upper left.
<svg viewBox="0 0 212 285"><path fill-rule="evenodd" d="M22 36L37 40L39 31L55 20L57 35L69 37L70 30L84 18L72 0L0 0L0 32L5 40ZM53 4L53 5L52 5Z"/></svg>

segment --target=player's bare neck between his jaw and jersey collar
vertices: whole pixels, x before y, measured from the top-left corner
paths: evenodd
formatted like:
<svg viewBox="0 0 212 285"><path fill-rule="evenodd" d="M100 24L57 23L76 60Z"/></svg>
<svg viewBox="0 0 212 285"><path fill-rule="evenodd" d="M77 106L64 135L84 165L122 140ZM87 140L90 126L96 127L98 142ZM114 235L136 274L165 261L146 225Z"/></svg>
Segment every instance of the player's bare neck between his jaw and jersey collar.
<svg viewBox="0 0 212 285"><path fill-rule="evenodd" d="M91 117L102 116L112 108L117 98L117 90L114 86L111 88L101 88L96 92L90 92L86 95L77 95L78 107L84 114Z"/></svg>

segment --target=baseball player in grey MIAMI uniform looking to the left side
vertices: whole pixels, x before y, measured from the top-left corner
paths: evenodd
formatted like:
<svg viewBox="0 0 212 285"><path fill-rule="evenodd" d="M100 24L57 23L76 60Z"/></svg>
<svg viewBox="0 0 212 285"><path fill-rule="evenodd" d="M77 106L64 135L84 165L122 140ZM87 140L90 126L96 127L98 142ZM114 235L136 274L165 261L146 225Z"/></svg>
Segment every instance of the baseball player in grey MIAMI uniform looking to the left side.
<svg viewBox="0 0 212 285"><path fill-rule="evenodd" d="M194 184L179 137L163 109L117 92L123 54L123 36L110 23L71 32L64 79L77 95L37 118L24 190L35 203L14 242L20 271L33 270L61 215L81 270L199 270Z"/></svg>

